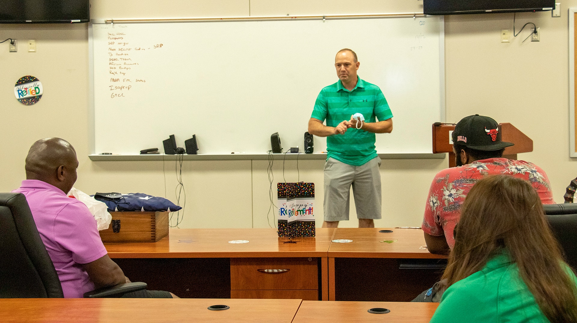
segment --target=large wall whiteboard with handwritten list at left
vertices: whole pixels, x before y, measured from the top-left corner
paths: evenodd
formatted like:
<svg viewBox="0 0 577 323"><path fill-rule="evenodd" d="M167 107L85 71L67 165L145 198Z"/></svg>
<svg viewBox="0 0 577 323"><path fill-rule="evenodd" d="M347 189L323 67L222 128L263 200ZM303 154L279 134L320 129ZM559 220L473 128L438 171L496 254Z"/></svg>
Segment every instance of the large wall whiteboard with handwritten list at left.
<svg viewBox="0 0 577 323"><path fill-rule="evenodd" d="M379 153L432 151L444 121L443 17L93 24L94 152L134 154L174 134L198 153L303 147L314 101L351 48L394 115ZM314 137L314 151L326 139ZM301 149L302 151L302 149Z"/></svg>

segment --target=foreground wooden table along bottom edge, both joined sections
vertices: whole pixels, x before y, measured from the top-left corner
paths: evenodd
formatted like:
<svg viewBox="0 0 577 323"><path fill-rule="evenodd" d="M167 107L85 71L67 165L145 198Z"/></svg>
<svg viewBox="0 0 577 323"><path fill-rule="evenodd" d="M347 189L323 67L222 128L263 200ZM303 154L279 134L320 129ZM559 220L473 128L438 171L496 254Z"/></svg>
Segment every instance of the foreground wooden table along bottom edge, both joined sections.
<svg viewBox="0 0 577 323"><path fill-rule="evenodd" d="M226 310L209 310L227 305ZM384 307L390 313L372 314ZM301 299L0 299L0 322L429 322L436 303L321 302Z"/></svg>

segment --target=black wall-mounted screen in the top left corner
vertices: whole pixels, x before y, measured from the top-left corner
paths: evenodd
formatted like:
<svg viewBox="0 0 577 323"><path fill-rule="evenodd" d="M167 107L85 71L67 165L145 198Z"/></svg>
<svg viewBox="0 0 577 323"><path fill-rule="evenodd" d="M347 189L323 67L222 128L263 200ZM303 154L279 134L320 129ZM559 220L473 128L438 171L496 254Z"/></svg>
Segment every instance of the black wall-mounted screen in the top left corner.
<svg viewBox="0 0 577 323"><path fill-rule="evenodd" d="M88 0L0 0L0 24L88 22Z"/></svg>

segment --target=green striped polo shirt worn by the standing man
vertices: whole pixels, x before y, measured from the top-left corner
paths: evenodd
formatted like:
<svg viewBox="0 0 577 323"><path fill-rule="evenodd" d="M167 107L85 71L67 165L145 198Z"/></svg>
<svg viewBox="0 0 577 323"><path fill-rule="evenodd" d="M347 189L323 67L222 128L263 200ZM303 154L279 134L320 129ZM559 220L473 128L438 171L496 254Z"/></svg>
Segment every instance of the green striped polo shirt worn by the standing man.
<svg viewBox="0 0 577 323"><path fill-rule="evenodd" d="M314 103L312 118L321 122L327 120L327 126L336 127L343 120L349 121L351 115L361 113L365 122L384 121L393 117L387 99L381 89L374 84L358 78L357 85L351 91L337 81L321 90ZM327 159L333 157L343 163L361 166L377 157L374 147L374 133L350 128L344 134L327 137Z"/></svg>

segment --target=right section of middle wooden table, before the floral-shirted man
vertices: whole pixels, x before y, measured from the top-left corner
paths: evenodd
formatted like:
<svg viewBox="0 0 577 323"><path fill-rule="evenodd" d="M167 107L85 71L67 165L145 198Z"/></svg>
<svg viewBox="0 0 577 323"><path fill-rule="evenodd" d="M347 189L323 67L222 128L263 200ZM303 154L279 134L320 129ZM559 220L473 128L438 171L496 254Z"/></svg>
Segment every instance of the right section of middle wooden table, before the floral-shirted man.
<svg viewBox="0 0 577 323"><path fill-rule="evenodd" d="M439 281L447 258L414 228L337 228L332 239L353 242L329 246L329 301L411 301Z"/></svg>

